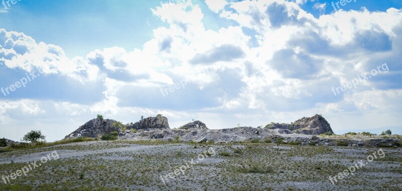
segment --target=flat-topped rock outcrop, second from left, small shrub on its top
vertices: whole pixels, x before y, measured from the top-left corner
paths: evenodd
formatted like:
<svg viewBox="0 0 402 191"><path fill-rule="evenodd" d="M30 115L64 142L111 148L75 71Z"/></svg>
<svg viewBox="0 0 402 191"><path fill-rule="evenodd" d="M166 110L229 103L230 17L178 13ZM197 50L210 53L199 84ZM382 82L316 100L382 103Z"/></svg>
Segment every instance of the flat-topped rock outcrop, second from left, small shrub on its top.
<svg viewBox="0 0 402 191"><path fill-rule="evenodd" d="M169 129L167 118L162 115L147 117L134 124L128 125L127 129Z"/></svg>

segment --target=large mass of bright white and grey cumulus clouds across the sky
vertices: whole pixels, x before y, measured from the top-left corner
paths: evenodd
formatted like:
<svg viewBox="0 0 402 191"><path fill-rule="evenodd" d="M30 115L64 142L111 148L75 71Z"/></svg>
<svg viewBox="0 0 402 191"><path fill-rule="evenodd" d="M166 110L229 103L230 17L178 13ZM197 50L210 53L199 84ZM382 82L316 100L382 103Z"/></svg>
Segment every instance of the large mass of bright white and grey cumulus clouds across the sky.
<svg viewBox="0 0 402 191"><path fill-rule="evenodd" d="M353 112L400 112L398 105L392 103L401 101L401 87L395 79L400 79L402 69L402 11L340 10L314 18L299 7L306 3L303 0L206 3L214 15L230 25L207 29L206 10L191 1L162 4L151 11L165 25L154 29L153 38L141 49L102 47L86 58L69 59L61 47L37 43L23 33L3 29L0 64L28 72L40 68L48 75L102 87L95 91L102 97L89 104L76 100L48 103L76 104L71 107L72 116L163 111L182 121L180 115L189 117L185 111L192 111L196 116L210 117L206 120L222 128L222 118L233 119L234 115L253 115L249 121L261 121L267 115L285 119L327 113L336 120L348 119L344 115ZM316 5L319 10L326 6ZM384 62L388 63L389 73L338 96L331 92L331 87ZM160 93L183 79L188 81L185 89L168 96ZM29 95L22 98L32 101ZM30 115L65 112L40 104L36 107L33 103L40 102L29 101L25 101L25 111ZM9 120L12 111L6 105L19 110L25 107L15 101L4 102L0 105L6 111L0 113L3 121ZM362 119L369 115L360 116Z"/></svg>

